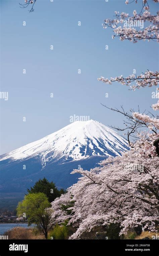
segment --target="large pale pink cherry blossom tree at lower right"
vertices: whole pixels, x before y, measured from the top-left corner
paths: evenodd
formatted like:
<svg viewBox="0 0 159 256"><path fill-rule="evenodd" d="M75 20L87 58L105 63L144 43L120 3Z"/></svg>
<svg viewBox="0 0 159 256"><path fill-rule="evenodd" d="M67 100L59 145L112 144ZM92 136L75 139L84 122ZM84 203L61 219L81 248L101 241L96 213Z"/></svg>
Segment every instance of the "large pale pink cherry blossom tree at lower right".
<svg viewBox="0 0 159 256"><path fill-rule="evenodd" d="M134 118L159 127L159 120L147 115ZM157 128L156 127L156 128ZM151 127L150 127L151 129ZM109 157L100 167L73 170L80 180L65 195L52 202L52 222L76 227L70 239L78 239L97 226L120 224L120 235L141 226L154 231L159 219L159 158L155 141L158 133L142 133L133 147L120 157Z"/></svg>

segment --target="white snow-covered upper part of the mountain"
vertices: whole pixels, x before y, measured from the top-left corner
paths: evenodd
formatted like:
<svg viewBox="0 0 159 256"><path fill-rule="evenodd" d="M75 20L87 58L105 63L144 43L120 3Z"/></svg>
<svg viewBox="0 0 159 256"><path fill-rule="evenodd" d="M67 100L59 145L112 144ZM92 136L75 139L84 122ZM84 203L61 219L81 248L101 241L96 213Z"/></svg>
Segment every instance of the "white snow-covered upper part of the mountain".
<svg viewBox="0 0 159 256"><path fill-rule="evenodd" d="M100 122L76 121L40 140L29 143L0 157L0 161L24 160L38 156L42 166L49 160L63 162L85 159L93 155L120 155L128 149L127 141Z"/></svg>

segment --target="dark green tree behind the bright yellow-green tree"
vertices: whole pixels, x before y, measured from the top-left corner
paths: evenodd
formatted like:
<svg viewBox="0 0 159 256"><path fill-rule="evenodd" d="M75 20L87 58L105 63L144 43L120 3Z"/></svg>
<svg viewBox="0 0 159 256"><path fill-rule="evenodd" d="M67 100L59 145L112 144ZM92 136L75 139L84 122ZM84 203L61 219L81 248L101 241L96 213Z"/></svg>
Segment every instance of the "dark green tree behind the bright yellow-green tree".
<svg viewBox="0 0 159 256"><path fill-rule="evenodd" d="M39 192L44 193L50 203L54 201L56 197L60 197L61 194L65 193L63 189L58 190L55 186L55 183L53 183L52 181L49 182L45 177L43 179L39 179L35 183L34 187L31 187L31 189L28 189L27 191L29 194Z"/></svg>

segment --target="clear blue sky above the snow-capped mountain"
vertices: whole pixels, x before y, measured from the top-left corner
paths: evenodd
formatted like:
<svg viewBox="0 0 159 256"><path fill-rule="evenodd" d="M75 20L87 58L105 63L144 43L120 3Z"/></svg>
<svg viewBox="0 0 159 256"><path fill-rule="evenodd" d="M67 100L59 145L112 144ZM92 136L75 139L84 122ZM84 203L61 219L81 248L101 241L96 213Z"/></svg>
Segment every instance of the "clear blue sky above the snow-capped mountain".
<svg viewBox="0 0 159 256"><path fill-rule="evenodd" d="M119 83L106 85L97 80L128 76L133 69L137 75L158 69L156 42L112 39L112 30L102 27L103 20L113 18L116 10L130 15L134 9L141 10L142 1L126 5L125 0L37 0L32 13L20 9L19 2L24 3L0 1L1 91L9 93L8 101L0 99L1 154L61 129L74 114L123 126L123 116L100 103L151 110L157 102L151 97L156 87L133 92ZM157 4L150 7L157 11Z"/></svg>

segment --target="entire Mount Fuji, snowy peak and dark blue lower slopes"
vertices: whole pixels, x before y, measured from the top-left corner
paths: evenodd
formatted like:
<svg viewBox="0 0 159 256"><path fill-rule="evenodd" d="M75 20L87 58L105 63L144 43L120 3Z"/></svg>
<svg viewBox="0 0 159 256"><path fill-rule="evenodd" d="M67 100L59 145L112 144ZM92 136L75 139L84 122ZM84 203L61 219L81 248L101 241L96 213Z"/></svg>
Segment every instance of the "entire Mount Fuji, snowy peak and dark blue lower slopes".
<svg viewBox="0 0 159 256"><path fill-rule="evenodd" d="M40 140L0 156L0 192L26 192L44 176L58 188L77 182L73 169L90 170L128 150L118 133L94 120L76 121Z"/></svg>

